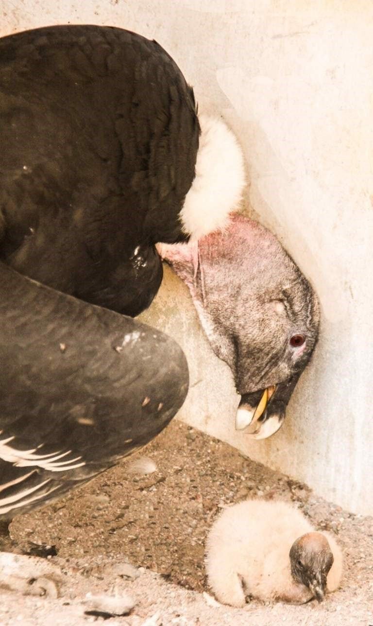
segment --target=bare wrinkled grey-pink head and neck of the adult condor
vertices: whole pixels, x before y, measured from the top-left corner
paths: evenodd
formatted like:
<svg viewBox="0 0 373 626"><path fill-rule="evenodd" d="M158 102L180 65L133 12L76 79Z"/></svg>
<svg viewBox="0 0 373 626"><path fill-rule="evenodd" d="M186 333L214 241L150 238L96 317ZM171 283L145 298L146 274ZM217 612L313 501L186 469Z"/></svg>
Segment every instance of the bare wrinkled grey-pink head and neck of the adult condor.
<svg viewBox="0 0 373 626"><path fill-rule="evenodd" d="M158 252L188 285L213 351L232 369L239 410L253 416L263 391L276 386L262 414L248 420L255 438L270 436L317 341L309 282L272 233L242 215L231 215L223 232L160 244ZM290 345L294 336L304 337L302 346Z"/></svg>

